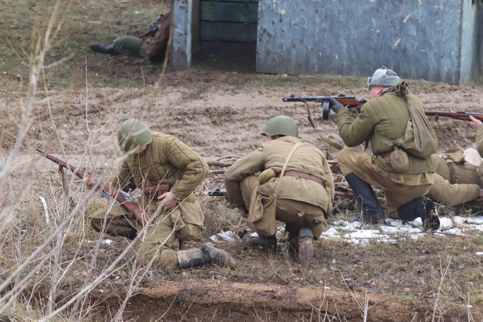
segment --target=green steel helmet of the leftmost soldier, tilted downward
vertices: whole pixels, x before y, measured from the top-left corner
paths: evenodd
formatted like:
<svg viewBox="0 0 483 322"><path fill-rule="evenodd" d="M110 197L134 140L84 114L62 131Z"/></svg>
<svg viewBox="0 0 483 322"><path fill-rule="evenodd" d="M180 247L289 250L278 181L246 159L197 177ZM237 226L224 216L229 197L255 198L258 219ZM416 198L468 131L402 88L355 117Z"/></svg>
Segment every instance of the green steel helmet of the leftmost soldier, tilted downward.
<svg viewBox="0 0 483 322"><path fill-rule="evenodd" d="M124 154L134 153L153 141L153 134L143 122L129 119L122 123L118 132L118 143Z"/></svg>

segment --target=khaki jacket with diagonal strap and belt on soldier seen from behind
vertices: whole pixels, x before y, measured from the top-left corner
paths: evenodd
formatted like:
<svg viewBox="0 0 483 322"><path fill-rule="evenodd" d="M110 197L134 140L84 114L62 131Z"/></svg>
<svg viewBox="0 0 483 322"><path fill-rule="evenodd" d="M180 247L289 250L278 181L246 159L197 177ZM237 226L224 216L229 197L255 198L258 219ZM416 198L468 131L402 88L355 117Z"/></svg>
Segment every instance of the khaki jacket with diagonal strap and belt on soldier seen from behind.
<svg viewBox="0 0 483 322"><path fill-rule="evenodd" d="M297 142L300 140L291 136L268 141L230 166L225 175L225 187L230 206L238 207L244 204L240 190L240 182L244 177L270 168L280 173L286 157ZM332 211L334 181L322 151L310 143L302 143L288 161L285 171L288 170L313 174L322 178L326 182L326 186L324 188L313 180L286 176L282 179L270 179L261 185L258 191L270 196L277 188L279 180L282 180L277 195L279 199L303 201L320 206L328 216Z"/></svg>

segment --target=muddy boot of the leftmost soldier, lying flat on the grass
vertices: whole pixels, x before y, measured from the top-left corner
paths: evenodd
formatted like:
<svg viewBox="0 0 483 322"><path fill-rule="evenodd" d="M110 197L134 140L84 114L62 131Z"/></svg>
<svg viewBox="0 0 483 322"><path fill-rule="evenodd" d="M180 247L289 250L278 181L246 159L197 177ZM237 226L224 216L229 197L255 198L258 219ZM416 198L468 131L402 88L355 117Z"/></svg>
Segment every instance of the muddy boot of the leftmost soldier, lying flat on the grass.
<svg viewBox="0 0 483 322"><path fill-rule="evenodd" d="M198 267L206 264L218 264L235 268L233 257L223 249L214 247L210 242L205 242L200 248L176 251L179 268Z"/></svg>

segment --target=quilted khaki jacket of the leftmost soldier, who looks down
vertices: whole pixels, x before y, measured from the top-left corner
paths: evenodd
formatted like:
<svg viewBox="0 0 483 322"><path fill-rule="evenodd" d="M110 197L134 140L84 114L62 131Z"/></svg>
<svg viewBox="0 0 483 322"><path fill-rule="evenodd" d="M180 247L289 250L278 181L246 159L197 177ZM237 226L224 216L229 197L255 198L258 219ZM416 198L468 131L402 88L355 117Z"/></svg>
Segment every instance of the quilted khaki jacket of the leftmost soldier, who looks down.
<svg viewBox="0 0 483 322"><path fill-rule="evenodd" d="M208 164L189 146L171 135L153 133L153 142L141 155L128 155L122 161L112 184L121 189L169 183L179 201L193 202L193 191L208 173ZM176 183L177 182L177 183Z"/></svg>

